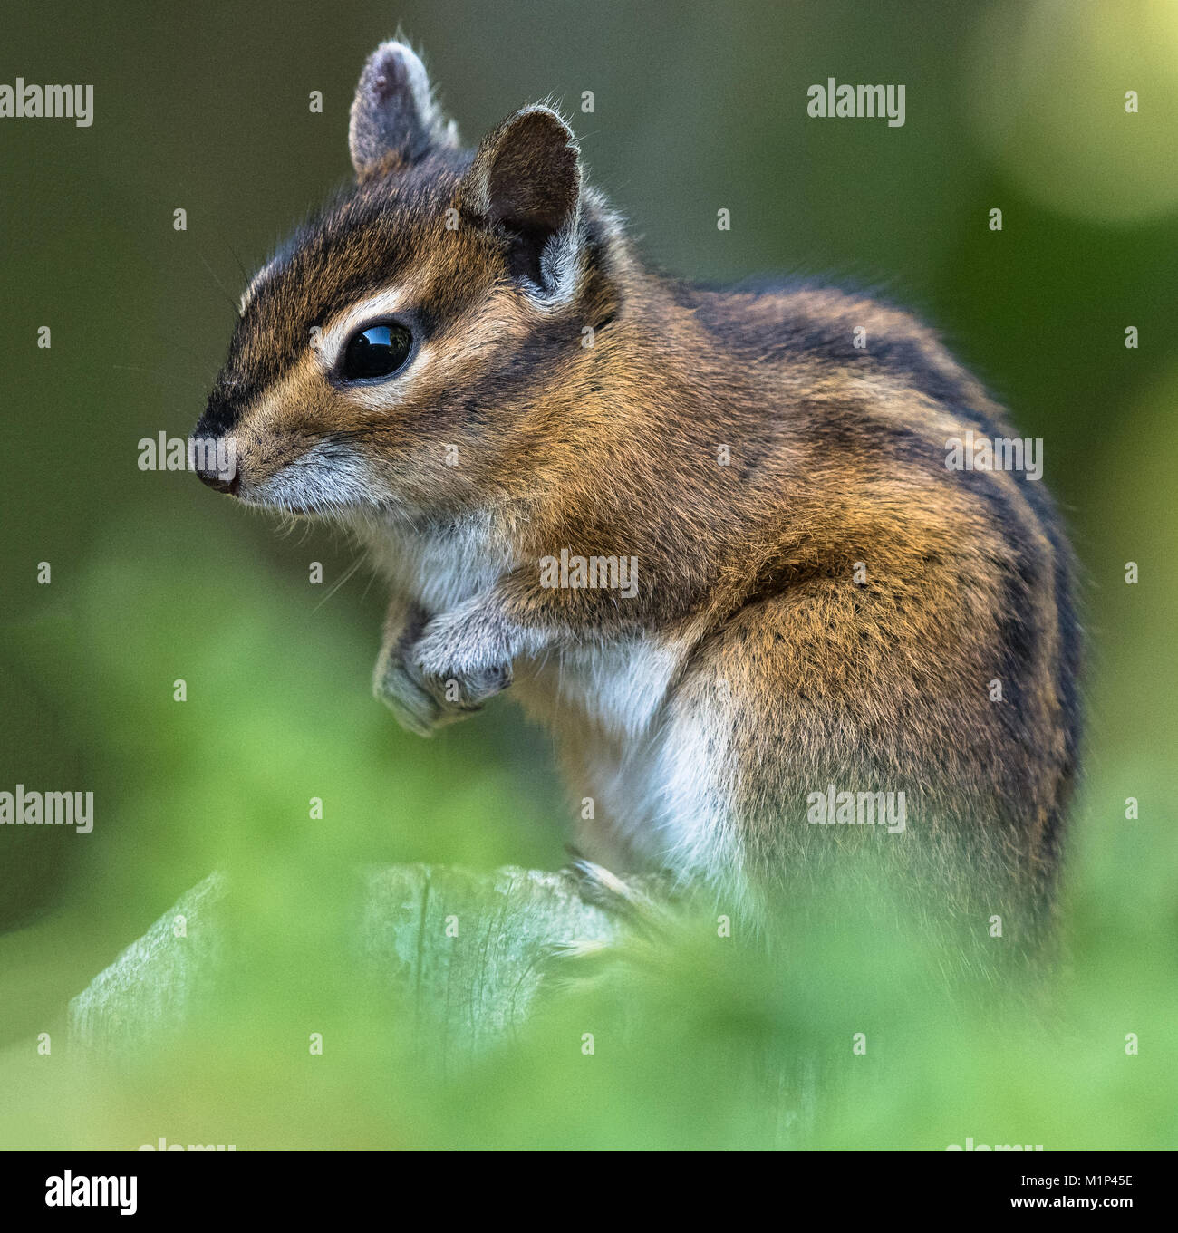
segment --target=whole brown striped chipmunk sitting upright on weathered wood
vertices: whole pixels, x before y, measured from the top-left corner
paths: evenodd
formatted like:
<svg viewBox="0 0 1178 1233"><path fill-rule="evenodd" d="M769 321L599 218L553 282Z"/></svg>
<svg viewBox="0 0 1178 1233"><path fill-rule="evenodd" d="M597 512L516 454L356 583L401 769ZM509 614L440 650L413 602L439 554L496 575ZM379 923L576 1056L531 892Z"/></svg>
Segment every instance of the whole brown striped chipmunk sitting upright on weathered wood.
<svg viewBox="0 0 1178 1233"><path fill-rule="evenodd" d="M978 382L871 300L650 272L556 112L464 150L402 46L350 148L355 189L245 292L196 435L233 446L215 487L370 544L398 719L509 686L614 869L768 893L946 840L960 883L1045 901L1073 566L1041 483L946 467L951 438L1010 435ZM904 834L814 825L831 785L903 792Z"/></svg>

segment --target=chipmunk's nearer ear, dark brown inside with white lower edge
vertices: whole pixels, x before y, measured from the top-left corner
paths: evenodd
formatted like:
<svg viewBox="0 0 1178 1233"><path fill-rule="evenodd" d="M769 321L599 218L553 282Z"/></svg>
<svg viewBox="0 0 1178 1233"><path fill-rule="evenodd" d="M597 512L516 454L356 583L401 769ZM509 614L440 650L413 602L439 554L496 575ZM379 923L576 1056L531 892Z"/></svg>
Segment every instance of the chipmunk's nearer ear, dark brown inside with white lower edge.
<svg viewBox="0 0 1178 1233"><path fill-rule="evenodd" d="M524 107L482 139L463 205L507 232L512 271L546 296L571 293L580 266L581 163L551 107Z"/></svg>

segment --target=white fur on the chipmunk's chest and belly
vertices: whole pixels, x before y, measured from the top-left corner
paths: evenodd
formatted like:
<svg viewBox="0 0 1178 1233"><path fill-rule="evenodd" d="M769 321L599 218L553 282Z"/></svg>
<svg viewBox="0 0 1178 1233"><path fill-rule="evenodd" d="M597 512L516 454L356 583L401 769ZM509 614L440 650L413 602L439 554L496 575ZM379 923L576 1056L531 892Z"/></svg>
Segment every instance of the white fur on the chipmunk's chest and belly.
<svg viewBox="0 0 1178 1233"><path fill-rule="evenodd" d="M516 562L488 523L366 535L395 589L442 613L492 587ZM516 662L511 695L553 732L574 800L592 798L586 854L707 874L727 853L733 785L722 757L729 716L682 689L690 640L599 636L549 646Z"/></svg>

